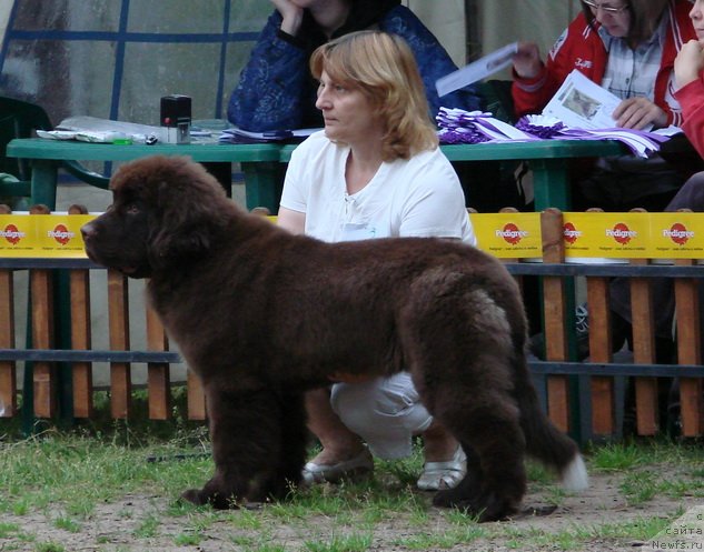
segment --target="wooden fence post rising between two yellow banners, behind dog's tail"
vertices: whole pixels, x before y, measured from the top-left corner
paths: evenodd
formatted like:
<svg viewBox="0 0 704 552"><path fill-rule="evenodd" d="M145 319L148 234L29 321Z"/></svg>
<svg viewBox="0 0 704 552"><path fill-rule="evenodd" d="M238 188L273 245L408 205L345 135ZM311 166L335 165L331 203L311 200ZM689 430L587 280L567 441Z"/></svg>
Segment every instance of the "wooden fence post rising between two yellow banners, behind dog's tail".
<svg viewBox="0 0 704 552"><path fill-rule="evenodd" d="M543 232L543 262L561 263L565 259L563 215L557 209L541 213ZM562 278L544 277L543 303L545 320L545 357L548 361L567 360L565 334L566 291ZM569 379L566 375L547 377L547 411L551 420L564 432L569 431Z"/></svg>

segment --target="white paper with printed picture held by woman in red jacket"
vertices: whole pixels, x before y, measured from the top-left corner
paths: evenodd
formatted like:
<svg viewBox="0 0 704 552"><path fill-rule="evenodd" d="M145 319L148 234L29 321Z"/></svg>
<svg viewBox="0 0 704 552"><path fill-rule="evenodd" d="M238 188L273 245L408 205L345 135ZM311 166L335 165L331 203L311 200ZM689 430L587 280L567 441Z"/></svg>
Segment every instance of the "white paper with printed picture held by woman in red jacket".
<svg viewBox="0 0 704 552"><path fill-rule="evenodd" d="M616 126L612 113L619 103L618 97L573 69L543 114L575 129L611 129Z"/></svg>

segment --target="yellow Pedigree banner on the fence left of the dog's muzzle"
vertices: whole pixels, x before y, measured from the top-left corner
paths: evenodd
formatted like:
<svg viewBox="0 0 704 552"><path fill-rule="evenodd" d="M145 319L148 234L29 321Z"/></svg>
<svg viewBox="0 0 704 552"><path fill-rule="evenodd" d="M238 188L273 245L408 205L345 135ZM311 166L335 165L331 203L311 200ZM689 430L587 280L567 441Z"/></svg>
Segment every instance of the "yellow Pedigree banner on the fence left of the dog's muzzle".
<svg viewBox="0 0 704 552"><path fill-rule="evenodd" d="M86 258L80 228L95 214L0 214L0 257Z"/></svg>

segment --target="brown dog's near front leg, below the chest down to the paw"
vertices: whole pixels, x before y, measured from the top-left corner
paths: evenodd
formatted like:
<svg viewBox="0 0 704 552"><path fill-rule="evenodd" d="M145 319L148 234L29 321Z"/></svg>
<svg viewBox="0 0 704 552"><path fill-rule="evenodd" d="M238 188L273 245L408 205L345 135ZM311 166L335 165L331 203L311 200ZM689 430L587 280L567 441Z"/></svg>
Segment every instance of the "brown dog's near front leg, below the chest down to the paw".
<svg viewBox="0 0 704 552"><path fill-rule="evenodd" d="M218 509L262 502L272 489L282 486L276 482L281 476L280 398L266 389L224 387L221 382L206 387L215 474L201 490L182 494L190 502Z"/></svg>

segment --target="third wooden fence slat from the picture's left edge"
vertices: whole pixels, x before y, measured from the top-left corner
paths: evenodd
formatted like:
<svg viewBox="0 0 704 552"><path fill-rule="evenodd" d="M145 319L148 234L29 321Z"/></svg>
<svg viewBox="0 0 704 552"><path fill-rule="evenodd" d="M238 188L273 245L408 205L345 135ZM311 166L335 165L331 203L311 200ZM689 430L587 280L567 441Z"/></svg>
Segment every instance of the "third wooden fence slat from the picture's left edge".
<svg viewBox="0 0 704 552"><path fill-rule="evenodd" d="M71 348L79 351L88 351L91 348L90 275L88 270L72 270L69 278L71 289ZM72 375L73 415L76 418L91 418L93 413L91 363L75 362Z"/></svg>

